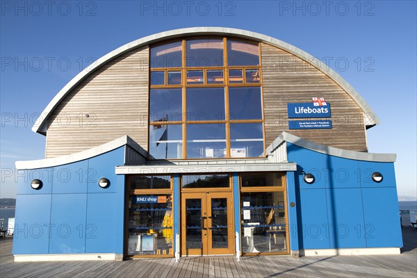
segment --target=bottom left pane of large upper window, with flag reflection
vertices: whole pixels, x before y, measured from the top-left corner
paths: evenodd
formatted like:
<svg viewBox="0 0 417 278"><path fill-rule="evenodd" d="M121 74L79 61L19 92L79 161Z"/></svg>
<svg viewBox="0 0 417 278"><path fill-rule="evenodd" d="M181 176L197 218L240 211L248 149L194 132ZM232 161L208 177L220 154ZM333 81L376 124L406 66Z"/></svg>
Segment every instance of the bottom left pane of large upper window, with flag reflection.
<svg viewBox="0 0 417 278"><path fill-rule="evenodd" d="M182 125L149 126L149 154L152 159L182 158Z"/></svg>

